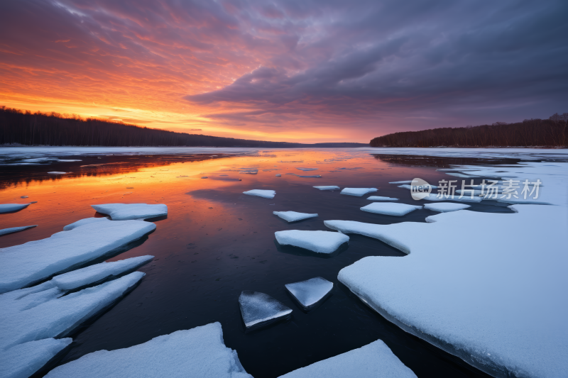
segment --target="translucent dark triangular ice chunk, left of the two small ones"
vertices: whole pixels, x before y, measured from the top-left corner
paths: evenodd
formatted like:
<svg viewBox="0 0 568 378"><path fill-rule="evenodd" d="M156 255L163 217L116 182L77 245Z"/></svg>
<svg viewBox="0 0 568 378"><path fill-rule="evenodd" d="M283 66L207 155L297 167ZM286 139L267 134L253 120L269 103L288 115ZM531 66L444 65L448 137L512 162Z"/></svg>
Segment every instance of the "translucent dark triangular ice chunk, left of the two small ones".
<svg viewBox="0 0 568 378"><path fill-rule="evenodd" d="M278 321L292 312L292 308L284 306L272 296L251 290L241 292L239 307L246 328Z"/></svg>

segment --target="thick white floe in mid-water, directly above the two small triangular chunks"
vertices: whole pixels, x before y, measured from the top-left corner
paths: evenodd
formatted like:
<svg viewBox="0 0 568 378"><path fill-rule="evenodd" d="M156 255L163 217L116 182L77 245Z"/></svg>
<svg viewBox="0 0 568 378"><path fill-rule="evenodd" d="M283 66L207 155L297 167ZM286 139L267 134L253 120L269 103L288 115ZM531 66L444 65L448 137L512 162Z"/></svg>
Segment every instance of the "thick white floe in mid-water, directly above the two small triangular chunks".
<svg viewBox="0 0 568 378"><path fill-rule="evenodd" d="M329 231L284 230L274 233L281 245L293 245L319 253L335 252L340 245L349 242L349 236Z"/></svg>

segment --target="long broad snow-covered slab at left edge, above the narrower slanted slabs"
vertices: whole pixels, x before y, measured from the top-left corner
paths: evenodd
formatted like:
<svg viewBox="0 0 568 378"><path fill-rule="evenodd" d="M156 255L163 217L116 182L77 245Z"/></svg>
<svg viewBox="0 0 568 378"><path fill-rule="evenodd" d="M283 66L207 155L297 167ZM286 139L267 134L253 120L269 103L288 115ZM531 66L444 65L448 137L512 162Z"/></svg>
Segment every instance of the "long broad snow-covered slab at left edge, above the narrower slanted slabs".
<svg viewBox="0 0 568 378"><path fill-rule="evenodd" d="M144 221L97 221L0 249L0 294L111 255L155 230Z"/></svg>

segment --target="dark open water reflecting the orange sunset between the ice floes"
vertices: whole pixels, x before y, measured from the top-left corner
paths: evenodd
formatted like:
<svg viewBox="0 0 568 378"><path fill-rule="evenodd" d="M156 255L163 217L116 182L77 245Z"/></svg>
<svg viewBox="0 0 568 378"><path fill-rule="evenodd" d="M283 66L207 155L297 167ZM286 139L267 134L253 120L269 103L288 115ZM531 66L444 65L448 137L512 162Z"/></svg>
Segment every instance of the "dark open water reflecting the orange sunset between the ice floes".
<svg viewBox="0 0 568 378"><path fill-rule="evenodd" d="M322 258L278 248L274 238L278 230L329 230L323 221L332 219L378 224L424 222L435 212L417 210L395 217L359 208L371 203L366 200L371 195L418 204L408 189L388 182L420 177L435 184L439 179L450 179L436 171L437 167L486 162L349 155L346 151L287 150L249 157L72 157L82 162L2 167L0 202L38 203L18 213L0 215L0 228L39 226L2 236L0 247L46 238L69 223L94 216L91 204L168 205L168 217L156 222L158 228L148 240L109 260L154 255L152 262L139 269L146 277L116 306L75 335L72 349L60 364L96 350L127 348L175 330L219 321L226 346L238 352L246 371L256 378L278 377L377 339L418 377L486 377L386 321L337 280L340 269L362 257L405 258L402 252L372 238L349 235L349 248ZM295 167L317 170L303 173ZM253 169L258 169L258 174L239 173ZM46 173L50 171L73 173L55 177ZM277 173L282 177L275 177ZM322 177L301 178L290 173ZM379 190L354 197L319 191L314 185ZM277 194L274 199L242 194L249 189L274 189ZM24 195L28 199L20 199ZM494 201L470 205L473 211L510 212ZM319 216L288 223L272 213L289 210ZM318 276L334 283L332 295L322 306L305 313L286 293L284 284ZM261 291L293 308L290 321L245 333L238 305L243 290Z"/></svg>

